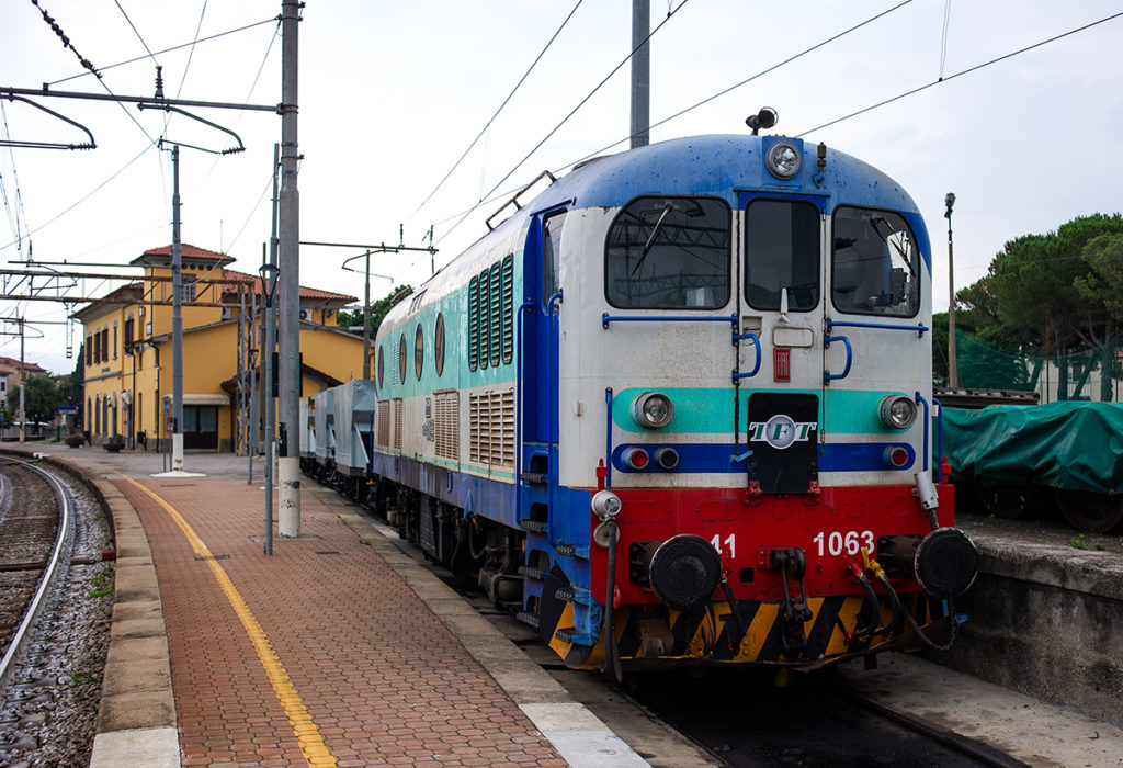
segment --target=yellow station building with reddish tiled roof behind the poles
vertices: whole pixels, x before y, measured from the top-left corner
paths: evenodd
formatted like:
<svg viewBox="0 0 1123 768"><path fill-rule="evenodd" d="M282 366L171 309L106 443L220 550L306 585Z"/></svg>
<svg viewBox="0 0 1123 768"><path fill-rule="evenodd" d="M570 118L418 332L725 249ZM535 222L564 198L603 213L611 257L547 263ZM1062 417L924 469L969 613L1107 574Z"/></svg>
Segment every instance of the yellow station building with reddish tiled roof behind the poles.
<svg viewBox="0 0 1123 768"><path fill-rule="evenodd" d="M249 375L262 383L261 280L227 269L235 259L226 254L190 245L181 254L183 445L232 450L246 445L250 429L248 408L239 419L239 394L241 404L249 402ZM85 337L84 422L94 445L120 435L126 447L156 450L171 440L172 246L146 250L131 264L144 267L143 277L74 313ZM355 301L301 286L301 396L362 375L363 339L336 323ZM263 388L257 414L264 414ZM259 435L259 415L256 427Z"/></svg>

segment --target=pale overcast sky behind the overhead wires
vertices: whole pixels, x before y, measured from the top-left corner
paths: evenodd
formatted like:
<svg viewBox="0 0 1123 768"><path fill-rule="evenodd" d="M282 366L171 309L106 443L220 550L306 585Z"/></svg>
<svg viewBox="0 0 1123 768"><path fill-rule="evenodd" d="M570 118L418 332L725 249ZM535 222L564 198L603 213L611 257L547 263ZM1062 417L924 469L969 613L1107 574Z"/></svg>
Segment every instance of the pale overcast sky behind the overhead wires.
<svg viewBox="0 0 1123 768"><path fill-rule="evenodd" d="M279 1L38 4L103 76L83 75L77 56L31 0L3 0L0 85L51 83L56 91L152 95L155 62L147 46L163 66L170 98L255 104L281 100L275 22L161 53L266 21L279 15ZM626 148L627 64L519 165L631 49L630 0L584 0L480 143L437 189L577 4L309 0L300 28L301 239L396 244L404 225L405 245L420 246L433 226L439 268L486 231L483 219L502 200L485 202L457 222L493 189L495 195L509 192L544 168L564 171L590 154ZM879 167L912 194L926 218L935 255L935 307L944 310L947 192L957 195L957 289L983 276L1010 239L1054 230L1077 216L1121 209L1123 17L955 75L1123 7L1088 0L913 0L895 6L893 0L652 0L651 27L666 20L651 38L652 122L776 68L654 128L651 140L743 132L745 118L770 106L779 112L773 132L805 134ZM669 10L675 12L667 19ZM885 15L776 66L879 13ZM944 82L932 88L821 127L941 75ZM0 148L4 268L21 268L12 263L33 255L39 262L124 265L148 248L168 245L171 158L154 140L163 135L199 147L231 146L228 135L181 116L165 124L163 113L140 112L135 106L35 101L86 127L98 148ZM0 138L85 138L26 103L0 103ZM271 163L280 118L191 111L238 134L246 150L227 156L182 150L183 241L227 252L238 259L234 268L256 273L270 235ZM303 247L301 283L362 296L362 280L340 269L345 258L358 253ZM417 285L429 271L427 255L380 256L372 263L372 272L394 283ZM103 295L119 284L86 281L70 295ZM9 282L6 293L13 287ZM375 277L372 295L384 295L390 287L390 280ZM56 373L73 369L74 360L64 355L65 326L35 324L61 323L62 304L2 304L2 317L25 316L35 329L27 340L29 360ZM40 333L43 338L30 338ZM80 336L79 327L75 355ZM0 355L18 357L18 338L0 337Z"/></svg>

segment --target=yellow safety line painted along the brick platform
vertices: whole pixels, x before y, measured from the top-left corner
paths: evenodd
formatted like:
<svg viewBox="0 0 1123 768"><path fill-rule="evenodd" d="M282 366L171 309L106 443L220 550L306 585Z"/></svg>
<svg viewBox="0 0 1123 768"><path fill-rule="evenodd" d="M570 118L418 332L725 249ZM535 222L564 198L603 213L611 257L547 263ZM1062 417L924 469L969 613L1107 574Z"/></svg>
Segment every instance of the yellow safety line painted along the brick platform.
<svg viewBox="0 0 1123 768"><path fill-rule="evenodd" d="M159 504L165 512L167 512L175 524L180 527L183 534L188 537L188 541L191 542L191 548L195 551L200 558L210 567L211 574L214 575L214 580L218 582L219 587L226 595L226 598L230 602L230 606L234 612L238 614L238 620L241 621L243 628L246 630L246 634L249 636L249 641L254 644L254 650L257 651L257 658L261 659L262 666L265 668L265 674L270 678L270 683L273 685L273 692L277 696L277 701L281 702L281 706L284 707L284 713L289 717L289 723L292 725L292 731L296 735L296 742L300 744L300 751L303 752L304 759L308 760L310 766L335 766L336 758L328 750L328 746L323 743L323 737L320 735L320 729L316 726L312 721L312 716L308 713L308 708L304 703L300 700L300 694L296 693L296 687L292 684L289 678L289 673L285 671L284 665L281 664L281 659L277 658L276 651L273 650L273 644L270 639L265 636L265 631L262 625L254 618L254 612L249 610L246 601L243 600L238 589L234 586L230 577L226 575L226 570L214 560L214 556L211 554L207 545L203 543L188 521L175 511L175 509L156 495L154 492L149 491L145 486L137 483L131 477L126 477L120 473L115 473L120 477L124 477L127 482L131 483L141 492L148 494L153 501Z"/></svg>

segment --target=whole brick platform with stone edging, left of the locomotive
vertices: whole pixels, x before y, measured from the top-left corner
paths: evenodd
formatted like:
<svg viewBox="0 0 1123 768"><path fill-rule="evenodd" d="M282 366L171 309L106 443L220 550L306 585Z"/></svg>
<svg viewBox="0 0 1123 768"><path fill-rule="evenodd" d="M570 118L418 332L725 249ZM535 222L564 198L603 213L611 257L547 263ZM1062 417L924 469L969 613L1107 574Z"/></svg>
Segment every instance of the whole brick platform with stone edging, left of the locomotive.
<svg viewBox="0 0 1123 768"><path fill-rule="evenodd" d="M95 478L117 587L92 766L642 766L374 521L302 483L264 555L263 473L37 446ZM277 504L274 504L274 510Z"/></svg>

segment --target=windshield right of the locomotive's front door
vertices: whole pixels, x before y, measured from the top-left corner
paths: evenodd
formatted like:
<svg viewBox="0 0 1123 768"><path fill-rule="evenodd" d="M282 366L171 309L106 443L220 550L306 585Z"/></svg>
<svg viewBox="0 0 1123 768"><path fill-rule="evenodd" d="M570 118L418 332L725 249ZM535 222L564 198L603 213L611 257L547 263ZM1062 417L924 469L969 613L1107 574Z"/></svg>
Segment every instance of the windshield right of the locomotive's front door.
<svg viewBox="0 0 1123 768"><path fill-rule="evenodd" d="M919 262L912 231L901 214L859 208L834 211L831 285L840 312L915 316Z"/></svg>

